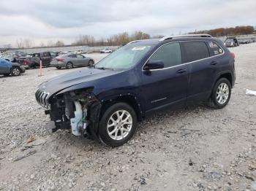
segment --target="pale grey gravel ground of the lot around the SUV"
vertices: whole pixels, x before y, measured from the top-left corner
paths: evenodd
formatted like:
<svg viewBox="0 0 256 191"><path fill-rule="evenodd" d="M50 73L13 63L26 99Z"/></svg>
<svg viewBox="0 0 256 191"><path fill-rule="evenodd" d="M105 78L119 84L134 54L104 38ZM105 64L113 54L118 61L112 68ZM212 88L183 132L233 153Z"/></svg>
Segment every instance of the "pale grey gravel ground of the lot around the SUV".
<svg viewBox="0 0 256 191"><path fill-rule="evenodd" d="M256 96L245 95L256 90L256 43L230 50L237 80L225 109L159 114L118 148L45 130L34 92L69 71L0 77L0 190L256 190Z"/></svg>

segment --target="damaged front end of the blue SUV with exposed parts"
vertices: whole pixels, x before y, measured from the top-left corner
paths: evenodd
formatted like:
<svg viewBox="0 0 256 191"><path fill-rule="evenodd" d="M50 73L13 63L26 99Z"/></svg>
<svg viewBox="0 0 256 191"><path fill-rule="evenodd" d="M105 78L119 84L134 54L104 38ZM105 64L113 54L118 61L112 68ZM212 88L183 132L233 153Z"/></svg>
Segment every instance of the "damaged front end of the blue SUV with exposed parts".
<svg viewBox="0 0 256 191"><path fill-rule="evenodd" d="M37 102L47 108L55 128L71 129L75 136L92 136L97 139L99 114L102 104L92 93L92 88L56 93L48 98L47 93L36 93Z"/></svg>

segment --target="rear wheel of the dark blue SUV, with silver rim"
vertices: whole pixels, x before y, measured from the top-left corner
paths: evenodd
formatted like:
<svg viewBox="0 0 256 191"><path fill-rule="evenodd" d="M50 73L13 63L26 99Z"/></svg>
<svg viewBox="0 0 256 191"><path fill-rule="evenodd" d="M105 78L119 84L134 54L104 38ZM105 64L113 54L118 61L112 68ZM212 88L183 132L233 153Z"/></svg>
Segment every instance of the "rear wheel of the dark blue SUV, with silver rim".
<svg viewBox="0 0 256 191"><path fill-rule="evenodd" d="M230 101L231 85L226 78L219 79L214 85L214 90L211 93L211 98L208 106L215 109L222 109Z"/></svg>

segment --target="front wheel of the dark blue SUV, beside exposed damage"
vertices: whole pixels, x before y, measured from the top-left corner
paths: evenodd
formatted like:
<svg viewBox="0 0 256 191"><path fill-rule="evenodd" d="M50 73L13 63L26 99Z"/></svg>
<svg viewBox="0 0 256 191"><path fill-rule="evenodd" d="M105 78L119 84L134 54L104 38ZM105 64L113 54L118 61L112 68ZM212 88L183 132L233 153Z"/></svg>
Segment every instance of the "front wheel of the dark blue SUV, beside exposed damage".
<svg viewBox="0 0 256 191"><path fill-rule="evenodd" d="M135 110L122 102L113 104L99 122L99 139L110 147L118 147L132 138L136 128Z"/></svg>

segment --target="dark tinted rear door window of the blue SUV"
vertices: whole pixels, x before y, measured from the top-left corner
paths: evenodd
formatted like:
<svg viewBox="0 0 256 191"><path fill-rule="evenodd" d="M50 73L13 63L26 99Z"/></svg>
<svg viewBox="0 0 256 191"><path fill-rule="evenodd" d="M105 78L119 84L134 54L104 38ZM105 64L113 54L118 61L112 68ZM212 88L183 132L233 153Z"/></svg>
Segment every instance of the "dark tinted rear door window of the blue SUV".
<svg viewBox="0 0 256 191"><path fill-rule="evenodd" d="M210 56L208 47L203 41L181 42L184 48L185 63L197 61Z"/></svg>

